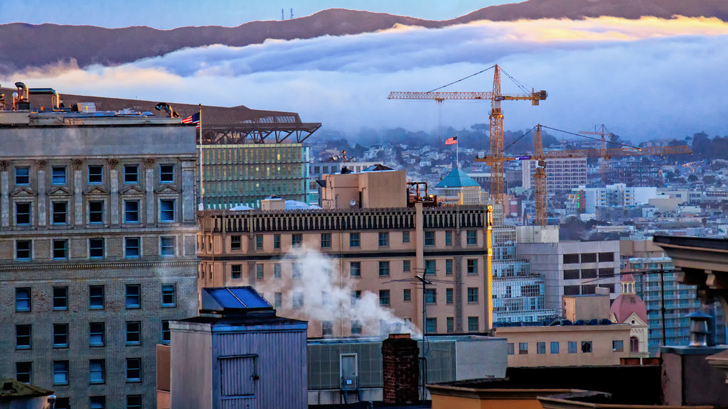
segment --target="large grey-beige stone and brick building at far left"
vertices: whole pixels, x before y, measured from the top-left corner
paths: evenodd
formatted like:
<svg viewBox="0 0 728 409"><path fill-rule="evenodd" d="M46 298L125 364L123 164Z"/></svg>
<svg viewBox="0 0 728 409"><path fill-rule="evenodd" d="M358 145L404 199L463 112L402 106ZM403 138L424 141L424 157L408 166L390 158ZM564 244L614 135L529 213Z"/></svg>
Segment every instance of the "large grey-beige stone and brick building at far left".
<svg viewBox="0 0 728 409"><path fill-rule="evenodd" d="M197 313L194 126L0 111L0 140L0 373L154 408L155 346Z"/></svg>

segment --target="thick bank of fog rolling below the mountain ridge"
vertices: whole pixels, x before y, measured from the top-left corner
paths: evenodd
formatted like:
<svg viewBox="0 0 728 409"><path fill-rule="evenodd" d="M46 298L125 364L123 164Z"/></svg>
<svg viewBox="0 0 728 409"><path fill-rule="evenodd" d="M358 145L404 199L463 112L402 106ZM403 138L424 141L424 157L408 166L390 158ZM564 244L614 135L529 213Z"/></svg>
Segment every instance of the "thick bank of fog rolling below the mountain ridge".
<svg viewBox="0 0 728 409"><path fill-rule="evenodd" d="M726 44L728 24L711 18L480 21L213 45L7 80L77 94L295 111L306 122L352 132L363 126L429 131L438 125L435 103L387 100L389 92L432 90L498 63L528 89L549 92L538 107L504 102L506 129L542 123L575 132L604 123L639 141L726 133ZM491 90L491 72L447 90ZM503 92L521 92L507 76L502 80ZM448 101L441 109L443 124L456 129L488 121L487 102Z"/></svg>

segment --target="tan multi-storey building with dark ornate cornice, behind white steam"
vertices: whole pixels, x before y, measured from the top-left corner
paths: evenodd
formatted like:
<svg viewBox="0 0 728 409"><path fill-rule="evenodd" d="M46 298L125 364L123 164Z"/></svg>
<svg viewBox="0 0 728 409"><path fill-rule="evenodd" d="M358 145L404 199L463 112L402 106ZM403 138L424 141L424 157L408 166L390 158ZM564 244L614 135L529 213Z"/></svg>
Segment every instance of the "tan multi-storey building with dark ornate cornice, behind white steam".
<svg viewBox="0 0 728 409"><path fill-rule="evenodd" d="M402 171L324 181L323 210L199 213L199 286L253 285L309 337L488 330L486 207L407 207Z"/></svg>

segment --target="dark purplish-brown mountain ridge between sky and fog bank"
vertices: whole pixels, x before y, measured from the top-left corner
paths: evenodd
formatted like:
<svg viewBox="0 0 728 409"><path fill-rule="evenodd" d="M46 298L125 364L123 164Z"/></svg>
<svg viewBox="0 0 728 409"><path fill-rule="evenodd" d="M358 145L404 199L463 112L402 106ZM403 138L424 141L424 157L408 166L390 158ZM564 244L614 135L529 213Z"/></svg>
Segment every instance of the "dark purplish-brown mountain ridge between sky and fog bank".
<svg viewBox="0 0 728 409"><path fill-rule="evenodd" d="M689 4L685 4L689 3ZM252 21L237 27L205 25L158 30L146 26L103 28L94 25L9 23L0 25L0 74L60 64L118 65L186 47L224 44L244 47L266 39L311 39L344 36L418 25L442 28L476 20L513 21L542 18L579 20L587 17L643 16L716 17L728 21L724 0L529 0L478 9L450 20L423 20L349 9L326 9L282 21Z"/></svg>

